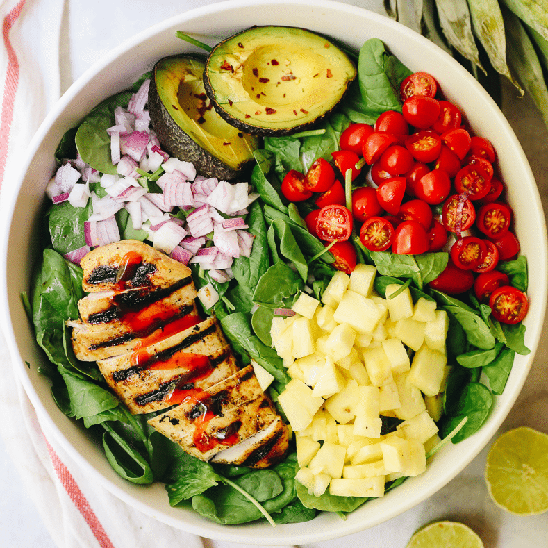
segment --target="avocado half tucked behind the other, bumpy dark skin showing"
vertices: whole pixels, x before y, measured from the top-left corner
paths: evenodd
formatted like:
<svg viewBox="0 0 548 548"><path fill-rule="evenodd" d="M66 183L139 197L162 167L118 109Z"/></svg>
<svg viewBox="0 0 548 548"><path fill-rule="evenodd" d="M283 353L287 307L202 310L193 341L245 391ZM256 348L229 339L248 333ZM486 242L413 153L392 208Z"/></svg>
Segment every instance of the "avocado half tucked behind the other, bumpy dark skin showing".
<svg viewBox="0 0 548 548"><path fill-rule="evenodd" d="M152 126L165 151L206 177L230 180L254 160L259 140L227 124L204 90L205 62L187 55L160 59L149 88Z"/></svg>

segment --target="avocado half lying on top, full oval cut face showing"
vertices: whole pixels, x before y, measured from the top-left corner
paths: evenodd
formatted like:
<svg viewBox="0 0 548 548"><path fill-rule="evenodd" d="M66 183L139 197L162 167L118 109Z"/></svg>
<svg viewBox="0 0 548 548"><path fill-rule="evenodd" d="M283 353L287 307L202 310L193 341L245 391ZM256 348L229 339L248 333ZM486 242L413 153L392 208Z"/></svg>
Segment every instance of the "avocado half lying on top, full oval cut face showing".
<svg viewBox="0 0 548 548"><path fill-rule="evenodd" d="M304 28L254 26L219 42L204 86L226 122L254 135L291 135L324 118L356 78L356 65Z"/></svg>

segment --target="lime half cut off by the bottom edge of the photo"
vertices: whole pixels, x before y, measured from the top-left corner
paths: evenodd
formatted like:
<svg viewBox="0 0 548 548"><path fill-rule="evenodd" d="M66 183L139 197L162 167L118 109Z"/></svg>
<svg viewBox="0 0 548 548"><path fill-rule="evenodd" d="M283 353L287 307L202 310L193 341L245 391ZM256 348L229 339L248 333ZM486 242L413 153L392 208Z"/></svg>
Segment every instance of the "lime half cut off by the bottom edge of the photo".
<svg viewBox="0 0 548 548"><path fill-rule="evenodd" d="M419 529L406 548L483 548L483 542L469 526L444 521Z"/></svg>

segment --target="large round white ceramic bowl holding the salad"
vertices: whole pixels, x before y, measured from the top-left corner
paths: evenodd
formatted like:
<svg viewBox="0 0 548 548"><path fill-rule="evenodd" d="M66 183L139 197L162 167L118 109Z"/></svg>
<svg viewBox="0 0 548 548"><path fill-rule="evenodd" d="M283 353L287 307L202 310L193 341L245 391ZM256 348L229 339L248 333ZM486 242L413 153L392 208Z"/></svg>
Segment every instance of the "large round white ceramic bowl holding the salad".
<svg viewBox="0 0 548 548"><path fill-rule="evenodd" d="M538 190L508 122L474 78L431 42L387 17L328 0L237 0L183 13L128 40L85 72L49 113L29 147L28 161L10 204L6 229L2 231L1 290L4 333L15 368L33 405L60 444L76 462L108 490L128 504L158 520L208 538L263 545L300 545L356 533L399 515L442 488L470 463L497 431L513 406L533 360L517 356L504 390L488 422L479 433L458 445L449 444L436 455L428 470L409 479L385 497L365 504L343 521L323 513L314 524L288 524L272 529L269 524L222 526L197 513L171 508L163 485L140 487L121 479L108 465L101 447L85 429L67 419L53 403L49 383L36 372L40 354L19 295L28 290L33 263L40 205L47 181L53 173L53 153L63 133L108 95L127 88L135 78L151 69L159 58L192 48L176 38L176 31L190 33L215 44L236 31L253 25L302 26L326 33L359 48L367 38L385 42L392 53L415 71L431 72L450 101L462 108L474 133L495 145L501 176L508 185L508 200L515 211L518 238L529 260L531 308L526 317L526 344L537 347L547 296L547 243ZM31 364L27 367L25 362Z"/></svg>

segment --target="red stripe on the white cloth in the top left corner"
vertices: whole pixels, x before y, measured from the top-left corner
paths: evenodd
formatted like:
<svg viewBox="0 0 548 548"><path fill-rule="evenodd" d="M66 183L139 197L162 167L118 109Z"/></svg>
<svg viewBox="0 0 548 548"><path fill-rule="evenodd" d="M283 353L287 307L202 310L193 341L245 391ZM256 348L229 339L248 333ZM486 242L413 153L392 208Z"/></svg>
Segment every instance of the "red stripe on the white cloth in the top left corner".
<svg viewBox="0 0 548 548"><path fill-rule="evenodd" d="M17 85L19 85L19 61L15 55L15 49L10 42L10 30L17 21L23 10L25 0L21 0L13 10L4 17L2 24L2 38L4 47L8 52L8 69L6 70L6 81L3 88L1 124L0 124L0 188L3 176L6 171L6 160L8 159L8 145L10 141L10 129L13 121L13 105L15 103L15 94Z"/></svg>

